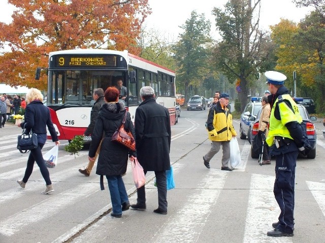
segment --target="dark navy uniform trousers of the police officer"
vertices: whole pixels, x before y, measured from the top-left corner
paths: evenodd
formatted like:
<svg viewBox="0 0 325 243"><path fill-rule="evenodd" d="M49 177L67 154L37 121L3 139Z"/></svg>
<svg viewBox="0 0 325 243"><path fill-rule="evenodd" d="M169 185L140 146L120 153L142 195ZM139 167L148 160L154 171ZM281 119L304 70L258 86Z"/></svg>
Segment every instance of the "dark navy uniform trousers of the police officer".
<svg viewBox="0 0 325 243"><path fill-rule="evenodd" d="M280 207L278 229L294 232L295 176L298 151L275 156L274 196Z"/></svg>

